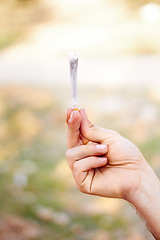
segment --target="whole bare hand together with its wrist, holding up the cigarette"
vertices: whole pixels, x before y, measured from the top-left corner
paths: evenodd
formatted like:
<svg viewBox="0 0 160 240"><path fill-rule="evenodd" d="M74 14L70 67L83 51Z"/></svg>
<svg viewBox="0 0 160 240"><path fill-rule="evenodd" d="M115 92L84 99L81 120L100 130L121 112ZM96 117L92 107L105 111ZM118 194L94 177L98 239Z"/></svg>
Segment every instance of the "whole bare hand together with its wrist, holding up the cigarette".
<svg viewBox="0 0 160 240"><path fill-rule="evenodd" d="M127 200L160 240L160 183L140 150L117 132L94 126L85 109L68 109L66 121L66 157L78 189Z"/></svg>

